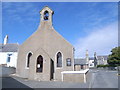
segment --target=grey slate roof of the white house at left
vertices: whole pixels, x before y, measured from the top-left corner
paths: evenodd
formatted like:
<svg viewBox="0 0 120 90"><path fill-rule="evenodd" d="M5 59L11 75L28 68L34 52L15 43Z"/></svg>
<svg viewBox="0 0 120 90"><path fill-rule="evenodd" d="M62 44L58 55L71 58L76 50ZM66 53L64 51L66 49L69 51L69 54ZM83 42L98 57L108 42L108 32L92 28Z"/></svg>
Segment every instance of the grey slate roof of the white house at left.
<svg viewBox="0 0 120 90"><path fill-rule="evenodd" d="M18 48L19 44L17 43L0 44L0 52L17 52Z"/></svg>

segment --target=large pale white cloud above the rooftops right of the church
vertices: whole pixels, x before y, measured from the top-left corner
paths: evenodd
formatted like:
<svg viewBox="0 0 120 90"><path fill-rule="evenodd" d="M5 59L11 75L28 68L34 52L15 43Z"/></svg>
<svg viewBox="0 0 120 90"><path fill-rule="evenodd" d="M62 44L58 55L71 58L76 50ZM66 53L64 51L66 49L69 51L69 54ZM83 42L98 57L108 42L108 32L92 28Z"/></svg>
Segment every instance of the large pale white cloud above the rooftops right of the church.
<svg viewBox="0 0 120 90"><path fill-rule="evenodd" d="M112 48L118 45L118 23L114 22L103 28L95 28L85 37L80 37L74 45L75 57L85 57L85 51L88 49L89 56L94 52L98 55L110 54Z"/></svg>

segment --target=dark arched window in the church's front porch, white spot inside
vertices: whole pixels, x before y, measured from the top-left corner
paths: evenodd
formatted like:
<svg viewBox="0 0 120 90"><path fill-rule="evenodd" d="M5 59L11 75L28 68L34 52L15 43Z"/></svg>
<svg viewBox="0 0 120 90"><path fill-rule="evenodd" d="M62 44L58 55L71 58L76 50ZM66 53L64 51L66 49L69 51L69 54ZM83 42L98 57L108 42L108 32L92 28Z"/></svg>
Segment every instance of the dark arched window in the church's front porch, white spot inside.
<svg viewBox="0 0 120 90"><path fill-rule="evenodd" d="M42 71L43 71L43 57L40 55L37 58L36 72L42 72Z"/></svg>

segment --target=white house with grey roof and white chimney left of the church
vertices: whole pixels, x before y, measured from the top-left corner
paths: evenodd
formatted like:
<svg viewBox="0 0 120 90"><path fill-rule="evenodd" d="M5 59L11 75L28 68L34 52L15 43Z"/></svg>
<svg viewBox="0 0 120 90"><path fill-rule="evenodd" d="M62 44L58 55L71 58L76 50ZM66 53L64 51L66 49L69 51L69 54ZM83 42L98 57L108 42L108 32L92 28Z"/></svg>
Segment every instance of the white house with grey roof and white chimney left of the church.
<svg viewBox="0 0 120 90"><path fill-rule="evenodd" d="M18 43L8 43L8 36L6 35L4 43L0 44L0 65L16 68L18 48Z"/></svg>

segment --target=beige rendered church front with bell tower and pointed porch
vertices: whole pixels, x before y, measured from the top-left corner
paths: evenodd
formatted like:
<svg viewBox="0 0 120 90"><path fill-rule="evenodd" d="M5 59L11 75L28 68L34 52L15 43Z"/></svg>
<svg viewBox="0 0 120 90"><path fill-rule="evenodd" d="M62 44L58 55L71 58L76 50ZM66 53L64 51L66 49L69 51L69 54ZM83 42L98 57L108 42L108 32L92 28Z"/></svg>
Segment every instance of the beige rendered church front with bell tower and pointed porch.
<svg viewBox="0 0 120 90"><path fill-rule="evenodd" d="M40 11L40 25L20 45L16 74L40 81L62 80L61 72L74 71L74 47L57 33L52 25L53 11Z"/></svg>

